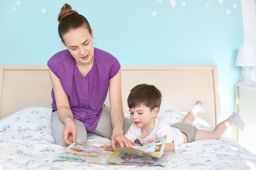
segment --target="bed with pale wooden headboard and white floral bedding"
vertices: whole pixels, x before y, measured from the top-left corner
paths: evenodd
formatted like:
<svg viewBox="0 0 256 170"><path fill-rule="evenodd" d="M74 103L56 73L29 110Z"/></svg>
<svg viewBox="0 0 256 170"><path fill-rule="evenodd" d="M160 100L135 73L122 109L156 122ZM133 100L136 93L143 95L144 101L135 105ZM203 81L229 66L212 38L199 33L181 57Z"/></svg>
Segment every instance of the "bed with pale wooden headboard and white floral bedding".
<svg viewBox="0 0 256 170"><path fill-rule="evenodd" d="M182 121L196 101L205 113L194 125L212 130L220 122L218 70L208 66L121 66L124 114L130 89L154 84L163 93L159 117L168 124ZM158 169L255 169L256 155L222 135L175 148L166 167L117 166L76 162L52 162L65 148L55 144L50 128L51 92L47 66L0 66L0 170L158 170ZM105 102L109 105L108 97ZM101 146L110 140L88 134L88 144Z"/></svg>

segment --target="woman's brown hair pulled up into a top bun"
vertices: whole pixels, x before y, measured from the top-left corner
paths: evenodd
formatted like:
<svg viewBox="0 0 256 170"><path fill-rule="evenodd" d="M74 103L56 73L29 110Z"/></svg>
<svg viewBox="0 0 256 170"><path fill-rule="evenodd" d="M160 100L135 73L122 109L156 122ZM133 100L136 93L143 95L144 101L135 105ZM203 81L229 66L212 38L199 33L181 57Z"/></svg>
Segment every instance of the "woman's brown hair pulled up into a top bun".
<svg viewBox="0 0 256 170"><path fill-rule="evenodd" d="M83 16L72 10L69 4L64 4L61 8L61 12L58 14L58 34L65 44L63 40L63 35L70 30L81 28L85 26L88 29L90 35L92 34L91 26L88 20Z"/></svg>

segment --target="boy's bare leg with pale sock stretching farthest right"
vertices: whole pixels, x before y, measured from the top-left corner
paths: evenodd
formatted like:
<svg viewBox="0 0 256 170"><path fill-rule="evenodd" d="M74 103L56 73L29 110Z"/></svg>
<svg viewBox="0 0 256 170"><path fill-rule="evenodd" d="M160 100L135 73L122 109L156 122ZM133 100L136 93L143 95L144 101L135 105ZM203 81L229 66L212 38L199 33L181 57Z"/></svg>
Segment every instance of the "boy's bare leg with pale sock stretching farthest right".
<svg viewBox="0 0 256 170"><path fill-rule="evenodd" d="M245 123L240 118L238 113L232 113L228 119L220 122L212 132L206 130L198 130L195 136L195 140L220 139L221 135L223 135L232 125L236 126L239 130L243 130L245 128Z"/></svg>

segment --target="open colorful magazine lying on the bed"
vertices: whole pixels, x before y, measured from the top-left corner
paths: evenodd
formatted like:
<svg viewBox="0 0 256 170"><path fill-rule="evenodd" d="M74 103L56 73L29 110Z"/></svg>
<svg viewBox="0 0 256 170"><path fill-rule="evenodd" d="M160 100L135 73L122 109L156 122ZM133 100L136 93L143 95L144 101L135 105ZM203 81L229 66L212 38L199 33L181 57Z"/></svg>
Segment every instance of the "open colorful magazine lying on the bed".
<svg viewBox="0 0 256 170"><path fill-rule="evenodd" d="M55 161L75 161L103 165L139 165L166 166L173 152L164 152L166 135L143 146L119 148L117 150L104 149L89 144L73 143Z"/></svg>

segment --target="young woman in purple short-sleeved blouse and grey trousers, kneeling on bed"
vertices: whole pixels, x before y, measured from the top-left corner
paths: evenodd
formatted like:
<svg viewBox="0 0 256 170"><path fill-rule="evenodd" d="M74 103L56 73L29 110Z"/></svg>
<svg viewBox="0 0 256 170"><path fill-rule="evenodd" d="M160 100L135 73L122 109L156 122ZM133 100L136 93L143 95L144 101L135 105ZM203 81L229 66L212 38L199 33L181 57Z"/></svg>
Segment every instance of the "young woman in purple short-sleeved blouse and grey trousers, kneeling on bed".
<svg viewBox="0 0 256 170"><path fill-rule="evenodd" d="M56 144L85 142L87 132L111 139L115 149L131 146L124 136L132 124L124 119L118 60L93 46L88 20L64 4L58 15L58 33L67 47L47 65L52 81L52 132ZM109 90L110 108L104 106Z"/></svg>

